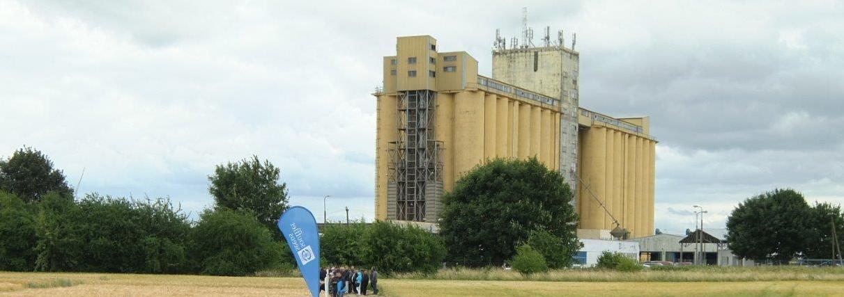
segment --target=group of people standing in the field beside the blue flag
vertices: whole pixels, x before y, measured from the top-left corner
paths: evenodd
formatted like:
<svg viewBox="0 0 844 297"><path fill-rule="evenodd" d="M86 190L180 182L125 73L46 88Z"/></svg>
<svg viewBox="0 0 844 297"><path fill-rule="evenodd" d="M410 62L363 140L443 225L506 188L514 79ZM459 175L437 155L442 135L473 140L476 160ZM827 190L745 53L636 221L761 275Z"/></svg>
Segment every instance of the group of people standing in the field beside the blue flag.
<svg viewBox="0 0 844 297"><path fill-rule="evenodd" d="M351 268L322 268L320 269L320 290L327 290L333 297L343 297L345 294L362 294L372 290L378 294L378 271Z"/></svg>

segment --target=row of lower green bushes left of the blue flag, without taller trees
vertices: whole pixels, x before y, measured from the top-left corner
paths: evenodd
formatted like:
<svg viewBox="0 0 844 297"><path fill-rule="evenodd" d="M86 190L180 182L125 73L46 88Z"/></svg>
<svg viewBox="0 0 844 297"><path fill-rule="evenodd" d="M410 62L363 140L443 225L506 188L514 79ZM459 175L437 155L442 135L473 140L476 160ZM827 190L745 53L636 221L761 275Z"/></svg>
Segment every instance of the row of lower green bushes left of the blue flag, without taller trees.
<svg viewBox="0 0 844 297"><path fill-rule="evenodd" d="M194 223L168 199L0 192L0 270L245 275L292 263L284 247L245 211Z"/></svg>

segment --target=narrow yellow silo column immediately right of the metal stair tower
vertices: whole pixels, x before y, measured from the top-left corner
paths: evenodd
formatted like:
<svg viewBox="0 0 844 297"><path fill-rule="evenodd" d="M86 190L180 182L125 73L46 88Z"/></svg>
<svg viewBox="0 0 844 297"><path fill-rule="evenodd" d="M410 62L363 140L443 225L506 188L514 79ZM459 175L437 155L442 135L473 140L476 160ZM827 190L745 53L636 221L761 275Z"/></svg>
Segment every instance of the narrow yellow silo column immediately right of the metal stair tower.
<svg viewBox="0 0 844 297"><path fill-rule="evenodd" d="M436 95L436 139L442 141L442 188L450 192L454 188L454 94Z"/></svg>

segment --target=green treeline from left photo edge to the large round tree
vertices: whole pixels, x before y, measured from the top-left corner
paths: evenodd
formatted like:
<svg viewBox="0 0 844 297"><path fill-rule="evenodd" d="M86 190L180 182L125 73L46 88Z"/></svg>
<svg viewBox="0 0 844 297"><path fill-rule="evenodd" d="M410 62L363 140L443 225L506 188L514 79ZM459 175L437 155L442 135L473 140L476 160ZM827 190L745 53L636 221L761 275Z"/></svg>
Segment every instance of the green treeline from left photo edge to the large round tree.
<svg viewBox="0 0 844 297"><path fill-rule="evenodd" d="M276 220L288 207L280 170L257 156L217 166L214 205L192 221L170 199L85 194L30 147L0 160L0 270L250 275L295 268ZM445 247L418 227L327 225L322 263L384 273L435 271Z"/></svg>

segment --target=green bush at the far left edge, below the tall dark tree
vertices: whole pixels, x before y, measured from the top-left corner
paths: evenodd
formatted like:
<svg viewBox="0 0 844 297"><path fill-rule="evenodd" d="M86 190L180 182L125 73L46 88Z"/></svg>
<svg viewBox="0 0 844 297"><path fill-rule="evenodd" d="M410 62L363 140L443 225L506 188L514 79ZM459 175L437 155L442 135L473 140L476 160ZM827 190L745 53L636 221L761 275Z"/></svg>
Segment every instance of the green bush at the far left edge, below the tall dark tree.
<svg viewBox="0 0 844 297"><path fill-rule="evenodd" d="M0 270L35 269L35 240L32 206L0 191Z"/></svg>

